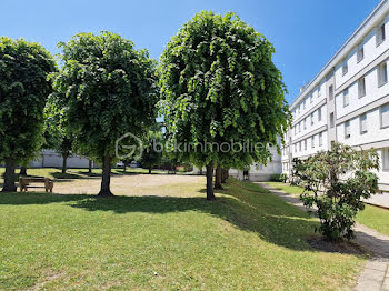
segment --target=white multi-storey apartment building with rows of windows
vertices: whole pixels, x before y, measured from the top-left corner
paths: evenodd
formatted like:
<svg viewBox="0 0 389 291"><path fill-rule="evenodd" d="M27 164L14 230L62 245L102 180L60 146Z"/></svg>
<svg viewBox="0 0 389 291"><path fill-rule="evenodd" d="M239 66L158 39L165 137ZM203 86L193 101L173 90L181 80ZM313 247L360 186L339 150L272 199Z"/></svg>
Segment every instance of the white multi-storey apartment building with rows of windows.
<svg viewBox="0 0 389 291"><path fill-rule="evenodd" d="M282 172L290 174L293 158L338 141L377 149L379 187L389 191L388 61L389 0L382 0L290 106Z"/></svg>

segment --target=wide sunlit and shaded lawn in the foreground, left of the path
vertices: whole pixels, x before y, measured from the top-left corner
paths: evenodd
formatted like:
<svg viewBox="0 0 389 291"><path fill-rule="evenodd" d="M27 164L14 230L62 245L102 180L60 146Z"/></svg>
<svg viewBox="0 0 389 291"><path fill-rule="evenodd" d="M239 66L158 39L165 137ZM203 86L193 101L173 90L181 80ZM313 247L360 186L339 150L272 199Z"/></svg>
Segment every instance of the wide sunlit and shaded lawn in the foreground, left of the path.
<svg viewBox="0 0 389 291"><path fill-rule="evenodd" d="M126 179L126 178L123 178ZM339 290L366 258L313 250L317 222L259 185L177 197L0 193L0 290ZM71 183L69 183L71 187ZM164 189L166 190L166 189Z"/></svg>

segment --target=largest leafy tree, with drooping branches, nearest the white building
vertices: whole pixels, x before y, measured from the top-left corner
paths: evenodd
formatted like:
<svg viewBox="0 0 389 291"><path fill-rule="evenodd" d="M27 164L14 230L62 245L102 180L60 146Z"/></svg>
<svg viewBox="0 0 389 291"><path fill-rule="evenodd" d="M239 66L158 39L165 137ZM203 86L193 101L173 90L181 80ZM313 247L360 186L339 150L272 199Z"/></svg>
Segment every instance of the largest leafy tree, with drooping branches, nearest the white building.
<svg viewBox="0 0 389 291"><path fill-rule="evenodd" d="M272 44L237 14L202 11L161 56L160 106L167 131L174 144L196 144L196 150L179 155L207 167L207 199L215 199L213 167L266 163L271 158L269 146L278 147L277 137L289 126L286 88L273 52ZM232 140L262 147L246 152L207 147Z"/></svg>

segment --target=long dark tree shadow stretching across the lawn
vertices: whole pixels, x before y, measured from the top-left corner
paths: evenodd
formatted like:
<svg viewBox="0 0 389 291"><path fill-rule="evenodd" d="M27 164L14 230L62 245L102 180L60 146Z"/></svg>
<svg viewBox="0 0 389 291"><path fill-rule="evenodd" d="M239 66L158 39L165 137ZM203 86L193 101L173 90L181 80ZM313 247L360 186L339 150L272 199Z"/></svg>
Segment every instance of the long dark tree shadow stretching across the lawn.
<svg viewBox="0 0 389 291"><path fill-rule="evenodd" d="M293 250L315 251L306 237L317 223L308 214L269 193L216 191L218 199L176 197L114 197L67 195L49 193L0 193L0 205L63 203L86 211L171 213L197 211L228 221L237 229L255 232L262 240ZM231 191L230 191L231 190ZM233 190L233 191L232 191Z"/></svg>

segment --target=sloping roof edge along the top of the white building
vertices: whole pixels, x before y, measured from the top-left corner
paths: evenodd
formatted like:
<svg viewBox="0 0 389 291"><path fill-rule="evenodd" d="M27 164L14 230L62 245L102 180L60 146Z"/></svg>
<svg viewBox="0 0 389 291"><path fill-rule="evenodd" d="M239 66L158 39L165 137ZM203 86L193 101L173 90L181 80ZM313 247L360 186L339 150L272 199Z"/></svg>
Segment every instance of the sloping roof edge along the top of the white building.
<svg viewBox="0 0 389 291"><path fill-rule="evenodd" d="M386 6L386 9L381 10L382 7ZM377 13L381 10L381 13ZM363 22L352 32L352 34L346 40L346 42L340 47L340 49L332 56L332 58L322 67L322 69L313 77L313 79L306 84L305 89L298 94L298 97L291 102L290 109L293 109L293 107L302 99L302 97L307 96L308 92L312 90L315 86L317 86L318 81L321 81L322 78L325 78L327 74L330 73L330 70L335 68L335 66L338 63L337 59L345 58L355 47L353 42L359 42L360 39L363 39L366 33L361 33L363 28L366 28L369 22L376 17L377 19L373 19L373 27L376 24L376 21L380 20L385 13L389 10L389 2L388 0L382 0L378 3L378 6L372 10L372 12L363 20ZM358 36L358 33L361 33ZM358 38L357 38L358 37ZM356 39L355 39L356 38ZM352 42L352 46L350 48L347 48ZM320 77L320 78L319 78Z"/></svg>

